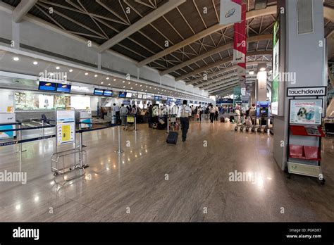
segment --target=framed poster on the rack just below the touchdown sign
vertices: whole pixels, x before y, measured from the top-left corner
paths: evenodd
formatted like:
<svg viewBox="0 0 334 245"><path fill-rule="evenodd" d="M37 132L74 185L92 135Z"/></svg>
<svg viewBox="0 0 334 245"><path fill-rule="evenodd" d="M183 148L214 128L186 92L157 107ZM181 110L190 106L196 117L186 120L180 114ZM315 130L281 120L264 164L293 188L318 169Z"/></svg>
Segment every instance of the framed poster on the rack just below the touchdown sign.
<svg viewBox="0 0 334 245"><path fill-rule="evenodd" d="M303 99L290 101L290 123L321 125L322 100Z"/></svg>

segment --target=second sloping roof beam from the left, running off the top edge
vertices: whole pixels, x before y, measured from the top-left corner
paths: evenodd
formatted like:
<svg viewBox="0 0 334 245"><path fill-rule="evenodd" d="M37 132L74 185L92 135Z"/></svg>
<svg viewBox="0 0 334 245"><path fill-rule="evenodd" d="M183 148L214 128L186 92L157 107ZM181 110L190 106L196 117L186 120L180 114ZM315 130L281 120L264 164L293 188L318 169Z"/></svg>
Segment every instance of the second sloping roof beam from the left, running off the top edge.
<svg viewBox="0 0 334 245"><path fill-rule="evenodd" d="M112 46L118 44L123 39L129 37L133 33L139 31L143 27L149 25L149 23L153 22L154 20L160 18L161 16L165 15L169 11L173 10L177 6L180 6L183 4L185 0L170 0L166 4L163 4L163 6L156 8L156 10L151 11L148 15L145 15L143 18L138 20L136 23L130 25L128 28L123 30L123 32L119 32L114 37L109 39L108 41L104 42L97 51L99 53L102 53L103 51L106 51L107 49L110 49Z"/></svg>

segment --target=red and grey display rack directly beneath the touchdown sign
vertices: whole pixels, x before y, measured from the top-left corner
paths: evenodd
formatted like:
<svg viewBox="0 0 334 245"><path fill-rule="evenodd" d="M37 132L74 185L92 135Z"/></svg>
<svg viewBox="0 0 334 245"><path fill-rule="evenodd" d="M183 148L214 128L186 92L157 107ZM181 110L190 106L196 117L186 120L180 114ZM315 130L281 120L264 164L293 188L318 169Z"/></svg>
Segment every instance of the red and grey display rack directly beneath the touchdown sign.
<svg viewBox="0 0 334 245"><path fill-rule="evenodd" d="M325 183L321 170L321 129L323 99L289 100L287 132L287 172L318 178Z"/></svg>

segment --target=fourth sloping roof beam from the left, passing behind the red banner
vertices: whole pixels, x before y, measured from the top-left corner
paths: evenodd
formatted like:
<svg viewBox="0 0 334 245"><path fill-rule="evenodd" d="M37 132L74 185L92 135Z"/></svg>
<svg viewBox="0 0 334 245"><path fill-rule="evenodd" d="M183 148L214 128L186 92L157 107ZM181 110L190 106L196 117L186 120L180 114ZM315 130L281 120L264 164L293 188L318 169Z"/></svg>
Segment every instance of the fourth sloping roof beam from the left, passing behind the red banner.
<svg viewBox="0 0 334 245"><path fill-rule="evenodd" d="M258 35L258 36L254 36L254 37L247 37L247 42L259 42L259 41L264 41L264 40L270 40L273 38L272 34L262 34L262 35ZM180 68L185 67L186 65L190 65L192 63L195 63L197 61L200 61L204 58L207 58L209 56L212 56L214 54L217 54L221 51L225 51L227 49L232 49L233 48L233 42L229 42L228 44L224 44L222 46L218 46L214 49L211 49L207 52L204 52L204 54L201 54L199 56L196 56L194 58L191 58L190 60L187 60L183 63L180 63L178 65L173 66L172 68L169 68L167 70L163 70L163 72L161 72L161 75L166 75L168 73L172 73L174 70L178 70Z"/></svg>

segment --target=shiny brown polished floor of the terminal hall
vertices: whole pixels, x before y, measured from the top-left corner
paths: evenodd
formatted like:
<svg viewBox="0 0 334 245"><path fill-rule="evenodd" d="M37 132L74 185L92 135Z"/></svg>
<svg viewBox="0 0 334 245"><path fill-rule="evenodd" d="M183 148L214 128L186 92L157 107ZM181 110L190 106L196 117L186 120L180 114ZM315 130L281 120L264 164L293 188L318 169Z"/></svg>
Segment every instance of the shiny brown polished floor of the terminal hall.
<svg viewBox="0 0 334 245"><path fill-rule="evenodd" d="M27 184L0 182L0 221L334 221L333 139L323 140L321 186L287 179L273 160L273 136L228 123L192 122L176 146L166 131L138 125L122 130L120 155L116 128L87 132L86 177L60 189L50 170L54 140L23 144L22 156L0 147L1 172L27 172ZM235 170L260 177L231 182Z"/></svg>

